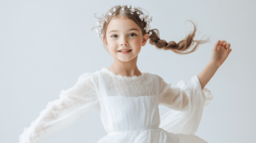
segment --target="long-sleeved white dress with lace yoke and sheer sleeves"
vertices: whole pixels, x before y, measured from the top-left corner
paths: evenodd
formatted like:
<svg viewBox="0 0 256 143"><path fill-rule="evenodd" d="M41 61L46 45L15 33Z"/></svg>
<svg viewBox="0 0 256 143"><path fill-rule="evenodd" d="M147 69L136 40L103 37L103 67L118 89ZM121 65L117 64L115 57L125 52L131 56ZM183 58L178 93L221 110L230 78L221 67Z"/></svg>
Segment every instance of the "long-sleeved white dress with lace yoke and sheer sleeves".
<svg viewBox="0 0 256 143"><path fill-rule="evenodd" d="M196 76L172 85L157 74L126 77L103 67L62 90L20 134L20 143L43 142L93 110L108 132L97 143L206 143L194 134L210 100ZM160 117L159 105L170 111Z"/></svg>

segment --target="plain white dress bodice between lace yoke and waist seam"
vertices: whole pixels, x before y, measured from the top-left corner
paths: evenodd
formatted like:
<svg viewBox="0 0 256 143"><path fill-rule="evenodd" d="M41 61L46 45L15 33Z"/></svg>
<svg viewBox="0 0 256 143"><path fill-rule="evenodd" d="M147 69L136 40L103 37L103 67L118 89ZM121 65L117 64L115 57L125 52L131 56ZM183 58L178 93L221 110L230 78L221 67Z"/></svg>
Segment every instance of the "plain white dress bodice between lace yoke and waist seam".
<svg viewBox="0 0 256 143"><path fill-rule="evenodd" d="M100 72L97 72L97 79L101 119L107 132L159 127L160 114L156 94L132 97L126 94L109 95L106 81Z"/></svg>

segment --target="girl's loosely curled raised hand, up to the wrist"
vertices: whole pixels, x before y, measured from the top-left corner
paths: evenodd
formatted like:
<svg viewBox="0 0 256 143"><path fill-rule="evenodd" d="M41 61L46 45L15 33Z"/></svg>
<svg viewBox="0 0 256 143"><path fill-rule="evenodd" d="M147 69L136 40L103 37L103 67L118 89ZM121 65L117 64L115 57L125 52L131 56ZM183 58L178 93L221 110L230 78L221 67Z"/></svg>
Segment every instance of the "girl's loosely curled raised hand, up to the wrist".
<svg viewBox="0 0 256 143"><path fill-rule="evenodd" d="M224 60L227 59L232 49L230 49L230 43L226 43L225 41L219 41L215 43L212 54L211 60L213 64L216 64L218 67L224 63Z"/></svg>

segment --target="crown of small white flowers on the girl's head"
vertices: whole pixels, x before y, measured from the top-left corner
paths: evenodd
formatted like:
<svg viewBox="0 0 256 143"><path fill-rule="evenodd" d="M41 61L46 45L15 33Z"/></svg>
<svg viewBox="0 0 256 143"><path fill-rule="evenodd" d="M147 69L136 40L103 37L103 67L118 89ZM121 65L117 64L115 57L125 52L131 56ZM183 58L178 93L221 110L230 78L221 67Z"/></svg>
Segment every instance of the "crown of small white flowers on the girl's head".
<svg viewBox="0 0 256 143"><path fill-rule="evenodd" d="M121 8L122 8L122 10L125 10L125 6L123 6L123 5L121 5ZM131 5L127 5L127 9L129 9L129 10L131 10L131 14L134 14L136 11L137 11L137 14L139 15L139 18L143 21L145 21L145 22L147 22L147 25L144 27L144 30L146 31L146 32L148 32L149 31L149 36L152 34L152 31L150 31L150 29L151 29L151 26L150 26L150 23L152 22L152 16L149 18L149 14L148 14L148 11L146 10L146 9L142 9L142 8L140 8L140 7L138 7L137 9L139 9L139 10L141 10L141 11L146 11L147 12L147 14L141 14L137 9L135 9L135 7L134 6L131 6ZM114 12L116 12L116 9L115 8L113 8L113 10L112 10L113 12L111 13L111 12L108 12L108 15L109 16L112 16L112 14L114 13ZM102 39L102 37L103 37L103 25L104 25L104 23L105 22L108 22L108 18L106 18L107 17L107 15L104 15L104 14L102 14L102 16L101 17L97 17L96 16L96 14L94 14L94 16L98 19L97 21L96 21L96 23L97 23L97 26L93 26L92 28L91 28L91 31L94 29L94 28L96 28L96 32L98 33L98 37L100 37L101 39Z"/></svg>

